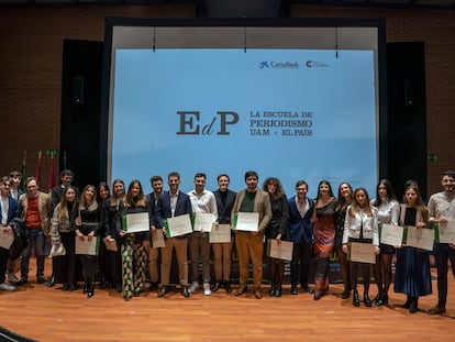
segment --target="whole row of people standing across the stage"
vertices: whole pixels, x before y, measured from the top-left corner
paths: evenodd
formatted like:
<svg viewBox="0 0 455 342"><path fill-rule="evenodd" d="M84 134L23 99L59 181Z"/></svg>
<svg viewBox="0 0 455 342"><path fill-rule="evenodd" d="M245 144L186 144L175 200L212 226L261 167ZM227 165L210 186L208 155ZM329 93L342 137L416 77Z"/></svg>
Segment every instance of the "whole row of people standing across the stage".
<svg viewBox="0 0 455 342"><path fill-rule="evenodd" d="M229 175L220 175L219 189L209 191L206 189L207 176L198 173L195 176L195 189L188 194L179 190L180 176L173 172L167 178L168 191L163 190L163 178L153 176L153 192L148 195L144 194L137 179L132 180L127 189L123 180L115 179L112 194L106 183L100 183L98 187L88 185L79 194L79 189L71 186L74 174L69 169L62 172L60 184L51 194L40 191L34 177L26 179L26 192L20 194L12 186L16 183L14 177L18 174L12 173L0 180L1 224L3 233L12 234L14 223L18 223L13 219L20 218L23 229L16 229L14 234L20 235L22 231L26 245L21 252L21 278L15 278L14 267L8 265L8 262L14 265L11 253L0 249L0 289L4 290L12 290L14 286L29 282L29 260L33 251L37 258L36 280L41 284L47 282L44 279L44 250L46 236L52 236L53 274L47 285L60 283L62 290L78 288L80 261L87 297L95 294L96 278L100 280L101 287L112 285L126 301L140 296L146 289L147 268L151 282L148 289L157 290L157 296L164 297L170 290L170 268L175 255L178 285L184 297L198 291L200 284L206 296L220 288L231 293L231 254L235 244L240 287L234 295L241 296L248 289L251 261L253 294L260 299L264 250L267 240L276 240L278 244L281 241L292 242L292 295L299 293L300 285L300 291L313 294L314 300L321 299L329 291L330 258L336 252L344 284L342 298L347 299L352 295L356 307L360 304L357 290L359 274L365 306L388 304L392 256L396 253L393 288L407 295L403 307L415 312L419 297L432 293L429 253L412 246L380 243L380 227L392 224L432 229L434 223L455 221L454 172L444 173L443 191L431 196L428 206L415 181L406 185L402 203L399 203L387 179L378 183L373 200L365 188L353 189L347 183L339 186L335 197L331 184L322 180L313 200L307 196L309 189L304 180L297 181L296 195L287 198L279 179L275 177L267 178L263 188L259 188L256 172L245 173L246 188L238 192L229 189ZM149 230L129 233L124 225L125 217L141 212L147 213ZM230 242L218 243L210 243L203 230L166 236L168 219L187 214L193 217L198 212L213 214L214 227L232 227L238 212L257 212L257 231L233 229ZM165 240L163 247L154 246L154 241L162 240L157 238ZM98 253L85 253L76 257L78 240L101 241ZM349 245L354 242L373 244L376 254L373 273L378 290L373 300L369 297L371 264L351 262L347 257ZM434 252L439 302L429 313L439 315L445 312L448 261L455 275L455 242L436 243ZM188 267L188 261L191 261L191 267ZM270 280L268 295L280 297L285 262L275 257L267 257L266 262L267 278ZM310 280L311 265L314 266L314 279ZM5 283L5 274L14 286ZM310 288L309 283L314 283L314 288Z"/></svg>

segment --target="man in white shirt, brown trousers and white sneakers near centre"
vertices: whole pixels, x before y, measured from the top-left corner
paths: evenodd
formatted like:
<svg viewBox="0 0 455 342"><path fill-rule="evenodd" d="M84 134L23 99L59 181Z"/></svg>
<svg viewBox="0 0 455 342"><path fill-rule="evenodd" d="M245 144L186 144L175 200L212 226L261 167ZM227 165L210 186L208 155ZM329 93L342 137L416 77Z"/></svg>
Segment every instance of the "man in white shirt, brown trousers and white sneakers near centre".
<svg viewBox="0 0 455 342"><path fill-rule="evenodd" d="M195 216L200 213L212 213L213 220L218 219L217 199L212 191L206 190L206 174L196 174L195 189L188 192L191 200L191 209ZM188 289L190 294L199 288L199 256L202 258L202 282L203 294L211 295L210 289L210 243L203 229L198 230L195 218L195 231L190 234L188 243L191 254L191 275L192 283Z"/></svg>

